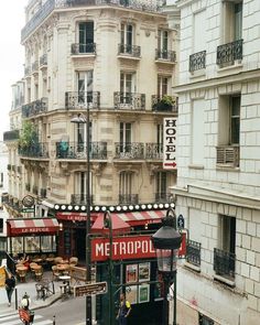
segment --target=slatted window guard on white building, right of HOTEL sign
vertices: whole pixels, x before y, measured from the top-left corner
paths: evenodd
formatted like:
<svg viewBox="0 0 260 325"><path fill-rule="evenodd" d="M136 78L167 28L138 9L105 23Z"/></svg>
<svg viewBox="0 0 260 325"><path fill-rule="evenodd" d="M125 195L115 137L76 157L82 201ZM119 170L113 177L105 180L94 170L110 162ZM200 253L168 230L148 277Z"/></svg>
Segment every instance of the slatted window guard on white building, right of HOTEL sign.
<svg viewBox="0 0 260 325"><path fill-rule="evenodd" d="M239 167L239 145L219 145L217 149L217 165Z"/></svg>

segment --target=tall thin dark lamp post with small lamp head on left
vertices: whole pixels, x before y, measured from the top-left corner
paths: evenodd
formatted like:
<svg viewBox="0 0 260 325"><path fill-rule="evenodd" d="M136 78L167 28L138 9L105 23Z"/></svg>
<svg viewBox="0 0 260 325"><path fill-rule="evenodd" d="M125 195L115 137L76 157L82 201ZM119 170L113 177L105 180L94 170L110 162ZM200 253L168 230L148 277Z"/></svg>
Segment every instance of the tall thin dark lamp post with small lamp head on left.
<svg viewBox="0 0 260 325"><path fill-rule="evenodd" d="M91 281L91 241L90 241L90 164L89 164L89 151L90 151L90 130L89 130L89 102L87 102L87 116L79 113L71 120L72 123L86 123L87 126L87 184L86 184L86 282ZM86 296L86 325L93 324L91 316L91 296Z"/></svg>

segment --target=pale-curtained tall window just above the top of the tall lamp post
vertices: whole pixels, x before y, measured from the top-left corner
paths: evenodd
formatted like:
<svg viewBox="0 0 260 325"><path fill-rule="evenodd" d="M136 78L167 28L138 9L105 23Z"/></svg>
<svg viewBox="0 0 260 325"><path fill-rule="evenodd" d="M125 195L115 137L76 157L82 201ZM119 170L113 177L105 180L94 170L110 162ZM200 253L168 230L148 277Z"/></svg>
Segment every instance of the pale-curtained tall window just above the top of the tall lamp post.
<svg viewBox="0 0 260 325"><path fill-rule="evenodd" d="M77 73L78 104L93 102L93 71Z"/></svg>

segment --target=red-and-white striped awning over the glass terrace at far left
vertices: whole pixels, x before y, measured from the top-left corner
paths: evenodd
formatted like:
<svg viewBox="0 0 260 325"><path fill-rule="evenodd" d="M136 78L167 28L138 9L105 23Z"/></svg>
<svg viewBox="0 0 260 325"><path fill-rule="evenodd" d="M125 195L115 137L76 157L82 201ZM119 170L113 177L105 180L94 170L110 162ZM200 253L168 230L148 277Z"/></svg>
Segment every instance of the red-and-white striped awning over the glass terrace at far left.
<svg viewBox="0 0 260 325"><path fill-rule="evenodd" d="M58 223L54 218L8 219L8 236L55 234Z"/></svg>

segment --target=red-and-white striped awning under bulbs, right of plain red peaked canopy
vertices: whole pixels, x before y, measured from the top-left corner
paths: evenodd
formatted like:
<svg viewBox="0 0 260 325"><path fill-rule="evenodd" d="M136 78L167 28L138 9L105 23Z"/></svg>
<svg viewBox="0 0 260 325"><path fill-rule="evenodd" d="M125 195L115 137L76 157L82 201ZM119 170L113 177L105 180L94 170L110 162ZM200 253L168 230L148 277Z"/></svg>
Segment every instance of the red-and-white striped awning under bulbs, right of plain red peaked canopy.
<svg viewBox="0 0 260 325"><path fill-rule="evenodd" d="M145 224L159 224L162 218L166 216L166 210L143 210L133 213L118 213L112 215L118 215L124 223L130 226L139 226Z"/></svg>

